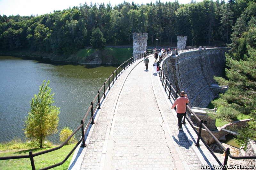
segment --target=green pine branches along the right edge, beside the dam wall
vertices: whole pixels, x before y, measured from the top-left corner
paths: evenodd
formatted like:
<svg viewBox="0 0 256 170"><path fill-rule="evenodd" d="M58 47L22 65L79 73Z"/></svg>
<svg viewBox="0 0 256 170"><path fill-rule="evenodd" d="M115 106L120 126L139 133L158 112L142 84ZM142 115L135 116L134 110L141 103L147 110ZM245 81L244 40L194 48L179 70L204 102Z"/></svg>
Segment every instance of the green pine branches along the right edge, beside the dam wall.
<svg viewBox="0 0 256 170"><path fill-rule="evenodd" d="M226 54L228 80L215 77L220 85L228 85L228 90L212 101L218 107L219 119L231 121L236 119L238 113L250 115L252 120L238 130L236 142L242 146L246 146L249 138L256 139L256 49L251 47L256 42L254 37L256 31L251 27L239 40L232 42L237 45L231 49L231 55Z"/></svg>

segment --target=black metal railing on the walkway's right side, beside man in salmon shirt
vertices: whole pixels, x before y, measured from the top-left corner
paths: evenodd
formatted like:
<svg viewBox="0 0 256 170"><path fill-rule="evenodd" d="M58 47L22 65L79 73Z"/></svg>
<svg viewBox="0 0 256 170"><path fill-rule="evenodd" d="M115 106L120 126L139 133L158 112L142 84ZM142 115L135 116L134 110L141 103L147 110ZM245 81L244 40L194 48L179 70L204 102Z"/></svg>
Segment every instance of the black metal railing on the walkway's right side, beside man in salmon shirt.
<svg viewBox="0 0 256 170"><path fill-rule="evenodd" d="M211 48L211 47L210 47ZM215 47L216 48L216 47ZM191 50L191 48L188 48L190 51L193 51L194 49ZM187 50L187 51L189 51ZM197 48L198 50L198 48ZM186 50L184 50L185 52ZM179 51L180 52L180 51ZM170 83L170 81L168 80L168 78L165 76L164 71L160 68L160 72L159 72L159 77L160 77L160 81L164 87L164 91L166 92L166 94L168 95L168 99L177 99L178 97L180 97L179 93L173 88L172 83ZM204 145L206 146L206 148L210 151L210 153L212 154L212 156L216 159L216 161L219 163L220 166L223 166L223 170L227 169L227 162L228 162L228 157L230 157L231 159L256 159L256 156L233 156L230 153L229 148L225 148L220 141L212 134L212 132L206 127L206 125L204 124L204 120L203 119L199 119L197 117L197 115L192 111L192 109L187 105L187 112L189 112L190 114L194 115L196 118L196 123L199 124L199 130L197 131L196 128L194 127L194 124L190 121L190 119L186 117L186 120L188 121L188 123L191 125L191 127L194 129L194 131L197 134L197 141L195 143L196 146L200 147L199 141L201 140ZM184 120L185 121L185 120ZM216 141L216 143L218 145L220 145L220 147L222 148L222 150L225 152L225 158L224 158L224 162L223 164L220 162L220 160L217 158L217 156L213 153L212 149L208 146L208 144L206 144L206 142L204 141L203 137L201 137L201 131L202 128L204 128L209 134L210 136Z"/></svg>

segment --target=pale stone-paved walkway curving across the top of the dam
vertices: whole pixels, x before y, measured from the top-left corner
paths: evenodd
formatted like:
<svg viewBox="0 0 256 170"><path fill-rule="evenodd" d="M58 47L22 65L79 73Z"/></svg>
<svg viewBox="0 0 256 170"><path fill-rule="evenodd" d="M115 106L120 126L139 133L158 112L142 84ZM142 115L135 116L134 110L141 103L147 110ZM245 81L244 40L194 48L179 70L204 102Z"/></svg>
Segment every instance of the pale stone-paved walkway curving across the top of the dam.
<svg viewBox="0 0 256 170"><path fill-rule="evenodd" d="M189 125L179 131L172 100L143 62L128 67L107 94L70 169L201 169L217 164ZM158 74L157 74L158 75Z"/></svg>

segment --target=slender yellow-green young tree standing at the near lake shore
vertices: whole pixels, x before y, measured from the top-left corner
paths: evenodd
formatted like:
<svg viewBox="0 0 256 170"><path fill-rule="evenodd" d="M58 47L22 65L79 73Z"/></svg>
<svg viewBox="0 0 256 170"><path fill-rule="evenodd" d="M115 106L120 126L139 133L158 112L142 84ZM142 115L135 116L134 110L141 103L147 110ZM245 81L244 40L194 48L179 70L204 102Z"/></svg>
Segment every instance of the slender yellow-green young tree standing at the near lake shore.
<svg viewBox="0 0 256 170"><path fill-rule="evenodd" d="M53 94L48 87L50 81L46 84L45 80L39 88L38 95L34 95L31 100L31 109L25 120L25 135L28 138L36 140L43 147L43 142L48 135L57 132L59 122L59 108L52 106Z"/></svg>

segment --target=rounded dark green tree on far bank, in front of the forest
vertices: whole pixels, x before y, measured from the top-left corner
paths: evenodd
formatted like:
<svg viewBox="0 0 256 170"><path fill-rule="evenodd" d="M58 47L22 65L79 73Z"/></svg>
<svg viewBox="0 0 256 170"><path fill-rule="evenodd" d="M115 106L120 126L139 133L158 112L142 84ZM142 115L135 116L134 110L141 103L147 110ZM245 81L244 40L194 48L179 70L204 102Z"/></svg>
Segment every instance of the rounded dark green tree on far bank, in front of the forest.
<svg viewBox="0 0 256 170"><path fill-rule="evenodd" d="M106 39L103 37L102 32L100 31L100 28L96 28L92 30L92 37L90 40L90 43L92 45L92 48L104 48Z"/></svg>

